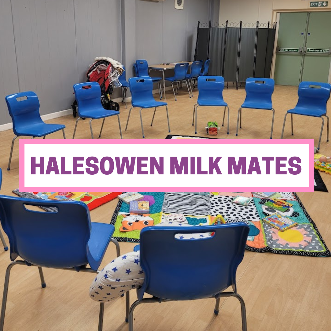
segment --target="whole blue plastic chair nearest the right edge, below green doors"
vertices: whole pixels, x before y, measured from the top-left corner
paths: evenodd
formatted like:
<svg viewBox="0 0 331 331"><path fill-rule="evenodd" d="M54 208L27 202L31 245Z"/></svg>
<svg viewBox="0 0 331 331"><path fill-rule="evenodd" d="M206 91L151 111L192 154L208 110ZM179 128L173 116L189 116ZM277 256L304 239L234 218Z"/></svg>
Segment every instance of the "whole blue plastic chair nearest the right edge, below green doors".
<svg viewBox="0 0 331 331"><path fill-rule="evenodd" d="M327 83L318 82L301 82L299 85L298 96L299 100L294 109L287 111L284 117L284 124L281 139L283 139L285 122L287 114L291 114L291 127L293 136L293 114L312 116L322 118L321 133L319 135L318 147L319 149L322 139L324 118L328 120L327 124L327 139L329 141L329 117L326 115L326 104L330 99L331 85Z"/></svg>

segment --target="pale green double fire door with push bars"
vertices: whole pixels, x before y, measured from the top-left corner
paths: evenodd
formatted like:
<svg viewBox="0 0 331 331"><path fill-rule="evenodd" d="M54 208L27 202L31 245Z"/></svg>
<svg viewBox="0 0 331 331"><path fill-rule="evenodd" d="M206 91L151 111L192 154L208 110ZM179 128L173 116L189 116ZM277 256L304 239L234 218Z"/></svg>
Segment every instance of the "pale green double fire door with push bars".
<svg viewBox="0 0 331 331"><path fill-rule="evenodd" d="M279 85L327 83L331 62L331 12L281 13L274 79Z"/></svg>

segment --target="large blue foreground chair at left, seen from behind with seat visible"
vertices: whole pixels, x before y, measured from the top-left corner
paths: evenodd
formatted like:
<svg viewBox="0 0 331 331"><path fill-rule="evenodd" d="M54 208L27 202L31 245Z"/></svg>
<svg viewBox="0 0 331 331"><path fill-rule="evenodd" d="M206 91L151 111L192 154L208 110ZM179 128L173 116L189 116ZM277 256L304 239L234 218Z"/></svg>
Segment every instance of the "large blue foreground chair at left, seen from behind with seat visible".
<svg viewBox="0 0 331 331"><path fill-rule="evenodd" d="M55 207L57 212L42 212L30 206ZM74 215L74 217L73 217ZM87 206L78 201L41 201L0 195L0 220L10 243L1 307L0 331L3 331L10 271L14 265L37 266L41 286L46 287L42 267L98 273L114 226L90 220ZM16 260L20 257L22 260ZM86 265L89 264L90 268ZM104 304L100 304L99 328L102 330Z"/></svg>

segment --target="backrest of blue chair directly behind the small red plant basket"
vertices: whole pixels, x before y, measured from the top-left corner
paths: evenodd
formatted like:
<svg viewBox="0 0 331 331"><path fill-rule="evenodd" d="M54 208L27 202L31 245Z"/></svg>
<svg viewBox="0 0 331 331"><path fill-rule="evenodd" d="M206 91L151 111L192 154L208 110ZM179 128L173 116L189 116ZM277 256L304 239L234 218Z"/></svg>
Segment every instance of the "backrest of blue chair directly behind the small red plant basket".
<svg viewBox="0 0 331 331"><path fill-rule="evenodd" d="M200 76L198 99L223 101L224 78L222 76Z"/></svg>

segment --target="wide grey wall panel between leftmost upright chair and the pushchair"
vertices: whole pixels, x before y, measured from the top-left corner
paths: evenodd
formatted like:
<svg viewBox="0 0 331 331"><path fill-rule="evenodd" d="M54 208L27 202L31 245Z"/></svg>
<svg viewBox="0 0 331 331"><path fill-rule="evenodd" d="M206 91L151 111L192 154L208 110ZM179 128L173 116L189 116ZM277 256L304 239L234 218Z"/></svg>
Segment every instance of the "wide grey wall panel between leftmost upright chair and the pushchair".
<svg viewBox="0 0 331 331"><path fill-rule="evenodd" d="M21 91L38 94L40 114L71 107L77 82L73 0L12 0Z"/></svg>

